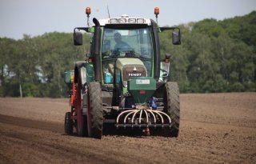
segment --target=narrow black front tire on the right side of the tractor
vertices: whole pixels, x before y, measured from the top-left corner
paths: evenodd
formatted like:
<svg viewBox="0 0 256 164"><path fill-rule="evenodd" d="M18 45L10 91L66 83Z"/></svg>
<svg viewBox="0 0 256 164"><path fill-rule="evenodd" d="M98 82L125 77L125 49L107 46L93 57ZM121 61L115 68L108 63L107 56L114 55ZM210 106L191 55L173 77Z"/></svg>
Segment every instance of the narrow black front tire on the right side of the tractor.
<svg viewBox="0 0 256 164"><path fill-rule="evenodd" d="M177 138L180 118L179 90L177 82L166 82L166 103L167 114L171 119L171 128L166 130L166 135Z"/></svg>

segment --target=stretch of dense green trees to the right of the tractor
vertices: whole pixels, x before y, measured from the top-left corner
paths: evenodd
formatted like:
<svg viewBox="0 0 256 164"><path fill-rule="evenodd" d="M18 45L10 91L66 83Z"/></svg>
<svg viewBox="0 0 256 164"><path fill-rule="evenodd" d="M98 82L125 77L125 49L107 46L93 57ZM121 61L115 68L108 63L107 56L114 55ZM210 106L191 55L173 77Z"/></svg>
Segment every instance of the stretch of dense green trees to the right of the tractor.
<svg viewBox="0 0 256 164"><path fill-rule="evenodd" d="M183 93L256 91L256 11L179 27L181 46L172 46L166 32L160 36L162 55L171 54L170 72Z"/></svg>

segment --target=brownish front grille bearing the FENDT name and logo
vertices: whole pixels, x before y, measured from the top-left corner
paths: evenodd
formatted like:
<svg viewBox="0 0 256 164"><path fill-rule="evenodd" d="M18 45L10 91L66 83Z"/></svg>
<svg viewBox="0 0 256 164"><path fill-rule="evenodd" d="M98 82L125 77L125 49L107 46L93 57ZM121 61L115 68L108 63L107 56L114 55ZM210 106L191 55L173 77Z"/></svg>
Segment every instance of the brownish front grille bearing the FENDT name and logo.
<svg viewBox="0 0 256 164"><path fill-rule="evenodd" d="M126 65L122 68L122 80L127 81L130 77L146 77L145 66Z"/></svg>

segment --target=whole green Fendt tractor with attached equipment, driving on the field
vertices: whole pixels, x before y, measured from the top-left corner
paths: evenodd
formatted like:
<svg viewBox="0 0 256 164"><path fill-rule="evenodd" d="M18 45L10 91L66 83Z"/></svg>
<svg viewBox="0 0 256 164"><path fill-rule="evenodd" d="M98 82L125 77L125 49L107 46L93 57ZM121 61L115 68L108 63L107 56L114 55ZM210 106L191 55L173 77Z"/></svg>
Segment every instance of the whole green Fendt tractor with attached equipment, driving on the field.
<svg viewBox="0 0 256 164"><path fill-rule="evenodd" d="M65 72L71 106L65 133L102 138L103 129L113 128L178 137L178 84L170 82L170 54L161 58L158 34L170 30L172 43L180 45L180 29L159 27L158 7L156 22L122 15L93 18L90 26L90 7L86 14L88 27L74 28L74 45L82 45L86 31L90 54Z"/></svg>

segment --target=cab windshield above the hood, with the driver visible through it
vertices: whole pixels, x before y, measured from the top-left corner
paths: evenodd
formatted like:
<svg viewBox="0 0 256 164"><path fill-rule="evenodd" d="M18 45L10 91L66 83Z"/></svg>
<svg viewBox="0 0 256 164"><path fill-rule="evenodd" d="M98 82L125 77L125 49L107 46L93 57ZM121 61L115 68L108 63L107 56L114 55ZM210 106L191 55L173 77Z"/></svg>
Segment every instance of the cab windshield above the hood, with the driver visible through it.
<svg viewBox="0 0 256 164"><path fill-rule="evenodd" d="M134 29L105 28L102 39L102 63L116 58L139 58L151 76L153 45L149 27ZM103 70L105 72L105 70Z"/></svg>

